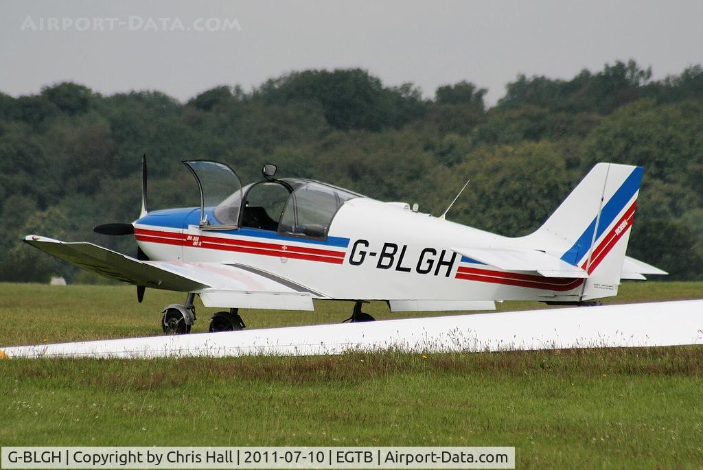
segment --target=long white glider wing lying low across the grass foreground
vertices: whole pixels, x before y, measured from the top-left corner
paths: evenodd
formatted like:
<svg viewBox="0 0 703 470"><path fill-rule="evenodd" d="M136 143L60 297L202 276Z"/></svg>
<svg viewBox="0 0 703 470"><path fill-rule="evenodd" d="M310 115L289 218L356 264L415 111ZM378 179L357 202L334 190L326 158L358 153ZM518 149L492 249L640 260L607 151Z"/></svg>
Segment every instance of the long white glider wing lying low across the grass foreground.
<svg viewBox="0 0 703 470"><path fill-rule="evenodd" d="M703 301L475 313L4 348L9 358L449 353L703 344ZM428 321L430 320L430 321ZM0 355L3 353L0 351Z"/></svg>

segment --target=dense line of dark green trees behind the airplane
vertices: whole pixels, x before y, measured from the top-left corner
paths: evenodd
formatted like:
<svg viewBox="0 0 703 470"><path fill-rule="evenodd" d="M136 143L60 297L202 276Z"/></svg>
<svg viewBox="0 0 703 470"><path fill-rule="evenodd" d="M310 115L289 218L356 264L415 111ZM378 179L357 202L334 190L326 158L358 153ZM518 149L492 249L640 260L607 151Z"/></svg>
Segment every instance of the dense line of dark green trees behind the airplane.
<svg viewBox="0 0 703 470"><path fill-rule="evenodd" d="M595 162L645 167L629 253L703 278L703 70L652 80L633 61L571 80L525 77L486 108L461 81L423 99L365 70L306 70L250 92L218 86L187 103L158 91L102 96L61 83L0 93L0 280L95 278L20 243L40 233L134 252L129 237L92 233L138 215L140 157L151 207L198 204L181 159L231 164L244 183L264 162L382 200L522 235L538 227Z"/></svg>

